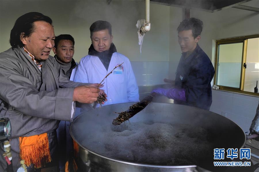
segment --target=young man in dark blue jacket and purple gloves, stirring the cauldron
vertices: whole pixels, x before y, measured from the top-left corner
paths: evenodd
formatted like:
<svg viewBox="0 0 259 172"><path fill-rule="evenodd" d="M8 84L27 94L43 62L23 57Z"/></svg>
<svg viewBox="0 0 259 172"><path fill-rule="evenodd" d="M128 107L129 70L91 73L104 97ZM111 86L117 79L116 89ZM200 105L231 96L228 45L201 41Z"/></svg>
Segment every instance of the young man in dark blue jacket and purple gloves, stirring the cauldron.
<svg viewBox="0 0 259 172"><path fill-rule="evenodd" d="M175 85L170 89L157 88L152 92L174 99L174 103L210 110L210 82L215 70L207 54L200 48L203 22L196 18L183 20L177 28L182 56L176 71Z"/></svg>

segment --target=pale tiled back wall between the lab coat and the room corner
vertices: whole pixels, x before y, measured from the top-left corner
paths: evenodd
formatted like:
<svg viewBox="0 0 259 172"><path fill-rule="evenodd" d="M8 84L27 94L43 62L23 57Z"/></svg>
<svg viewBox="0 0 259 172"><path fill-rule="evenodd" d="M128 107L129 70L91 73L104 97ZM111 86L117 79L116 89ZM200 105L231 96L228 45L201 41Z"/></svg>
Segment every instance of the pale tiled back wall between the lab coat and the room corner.
<svg viewBox="0 0 259 172"><path fill-rule="evenodd" d="M138 85L164 84L169 62L131 62Z"/></svg>

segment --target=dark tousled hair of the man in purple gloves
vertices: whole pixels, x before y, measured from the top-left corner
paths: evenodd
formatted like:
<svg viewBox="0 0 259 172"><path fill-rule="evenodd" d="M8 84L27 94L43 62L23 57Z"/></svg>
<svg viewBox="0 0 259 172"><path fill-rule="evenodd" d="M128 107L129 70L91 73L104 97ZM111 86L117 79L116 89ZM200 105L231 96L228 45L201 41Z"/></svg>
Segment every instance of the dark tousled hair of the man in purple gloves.
<svg viewBox="0 0 259 172"><path fill-rule="evenodd" d="M188 18L184 19L177 28L177 32L181 32L184 30L192 30L193 37L197 38L197 36L201 35L203 28L203 22L197 18Z"/></svg>

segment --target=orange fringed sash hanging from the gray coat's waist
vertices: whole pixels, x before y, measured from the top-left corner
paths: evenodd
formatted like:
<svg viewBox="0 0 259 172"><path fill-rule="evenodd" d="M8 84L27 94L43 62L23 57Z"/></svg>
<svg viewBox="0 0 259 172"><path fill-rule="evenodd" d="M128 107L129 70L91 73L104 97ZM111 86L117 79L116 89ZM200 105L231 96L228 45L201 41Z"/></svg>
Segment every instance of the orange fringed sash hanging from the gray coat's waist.
<svg viewBox="0 0 259 172"><path fill-rule="evenodd" d="M19 137L20 158L24 159L25 165L34 164L34 168L44 167L51 161L49 140L47 133L29 137Z"/></svg>

